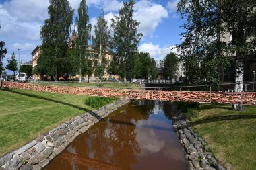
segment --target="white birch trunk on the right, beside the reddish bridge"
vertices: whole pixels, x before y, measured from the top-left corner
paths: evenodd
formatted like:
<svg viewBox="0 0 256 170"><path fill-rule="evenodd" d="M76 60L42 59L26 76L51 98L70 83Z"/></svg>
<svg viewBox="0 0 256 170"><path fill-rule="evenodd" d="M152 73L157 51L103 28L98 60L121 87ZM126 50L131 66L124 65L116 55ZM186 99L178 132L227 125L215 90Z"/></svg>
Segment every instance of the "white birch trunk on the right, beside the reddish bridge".
<svg viewBox="0 0 256 170"><path fill-rule="evenodd" d="M245 53L239 52L236 56L236 74L234 77L235 85L234 92L242 92L243 91L243 76L244 76L244 59ZM242 98L241 98L242 99ZM232 109L236 111L243 110L242 103L236 103L232 105Z"/></svg>

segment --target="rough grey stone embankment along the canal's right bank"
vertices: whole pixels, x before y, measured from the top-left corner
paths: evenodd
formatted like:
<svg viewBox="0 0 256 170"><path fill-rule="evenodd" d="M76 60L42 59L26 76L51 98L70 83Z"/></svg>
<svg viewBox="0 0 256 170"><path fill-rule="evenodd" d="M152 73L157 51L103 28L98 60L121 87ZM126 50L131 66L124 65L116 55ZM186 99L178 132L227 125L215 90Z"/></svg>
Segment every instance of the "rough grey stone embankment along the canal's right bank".
<svg viewBox="0 0 256 170"><path fill-rule="evenodd" d="M213 157L210 147L206 142L191 128L189 120L184 114L172 105L173 128L179 136L179 140L183 145L187 159L189 160L189 169L205 169L205 170L225 170L226 168Z"/></svg>

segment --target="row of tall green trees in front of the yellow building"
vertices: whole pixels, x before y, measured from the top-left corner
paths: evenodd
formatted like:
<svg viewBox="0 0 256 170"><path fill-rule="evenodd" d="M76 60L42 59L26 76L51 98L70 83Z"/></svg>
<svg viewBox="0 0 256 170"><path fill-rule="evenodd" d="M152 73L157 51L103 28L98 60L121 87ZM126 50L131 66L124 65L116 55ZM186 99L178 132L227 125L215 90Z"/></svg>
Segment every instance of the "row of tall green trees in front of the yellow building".
<svg viewBox="0 0 256 170"><path fill-rule="evenodd" d="M137 32L139 22L133 19L135 1L123 3L119 14L111 19L111 28L100 13L91 35L92 25L89 23L86 1L80 2L75 18L77 38L69 46L74 10L67 0L50 0L48 7L49 19L41 28L41 53L34 73L53 75L92 75L100 79L105 71L110 75L119 75L124 81L132 78L157 79L156 60L150 54L138 52L138 45L143 34ZM110 29L113 32L110 34ZM92 50L88 42L92 40ZM110 54L110 60L106 60ZM97 61L99 61L97 63Z"/></svg>

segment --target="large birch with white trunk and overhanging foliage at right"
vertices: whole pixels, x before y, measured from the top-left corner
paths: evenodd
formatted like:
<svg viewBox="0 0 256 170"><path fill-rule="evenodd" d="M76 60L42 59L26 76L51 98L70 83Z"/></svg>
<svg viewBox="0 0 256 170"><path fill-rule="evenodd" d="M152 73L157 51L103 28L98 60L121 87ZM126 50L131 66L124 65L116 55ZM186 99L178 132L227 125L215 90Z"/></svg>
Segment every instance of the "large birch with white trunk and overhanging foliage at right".
<svg viewBox="0 0 256 170"><path fill-rule="evenodd" d="M182 34L185 40L179 45L179 50L184 61L192 58L194 62L185 62L185 65L201 68L201 71L197 69L200 73L197 78L207 78L211 83L220 77L216 74L219 67L225 67L229 58L235 56L234 91L242 91L245 54L255 50L256 1L181 0L177 7L182 17L187 16L187 22L183 24L185 33ZM232 40L225 41L228 34ZM241 105L234 105L234 109L240 110Z"/></svg>

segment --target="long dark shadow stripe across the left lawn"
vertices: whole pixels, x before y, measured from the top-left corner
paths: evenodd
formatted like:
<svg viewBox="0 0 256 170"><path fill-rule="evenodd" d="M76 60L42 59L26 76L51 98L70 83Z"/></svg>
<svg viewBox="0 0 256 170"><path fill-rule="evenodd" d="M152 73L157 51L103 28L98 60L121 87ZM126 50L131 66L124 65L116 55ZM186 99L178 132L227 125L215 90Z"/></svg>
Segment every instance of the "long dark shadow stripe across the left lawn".
<svg viewBox="0 0 256 170"><path fill-rule="evenodd" d="M15 94L18 94L18 95L24 95L26 97L33 97L35 99L42 99L42 100L45 100L45 101L50 101L50 102L53 102L53 103L58 103L58 104L62 104L62 105L67 105L69 107L72 107L72 108L75 108L75 109L78 109L78 110L82 110L84 112L88 112L90 115L94 116L95 118L97 118L98 120L101 119L100 116L98 116L96 113L94 113L92 110L88 110L86 108L83 108L83 107L80 107L78 105L73 105L71 103L65 103L63 101L58 101L58 100L55 100L55 99L49 99L47 97L42 97L40 95L32 95L32 94L28 94L28 93L22 93L20 91L13 91L12 89L1 89L3 91L7 91L7 92L10 92L10 93L15 93Z"/></svg>

